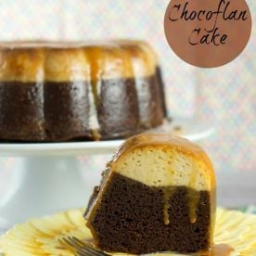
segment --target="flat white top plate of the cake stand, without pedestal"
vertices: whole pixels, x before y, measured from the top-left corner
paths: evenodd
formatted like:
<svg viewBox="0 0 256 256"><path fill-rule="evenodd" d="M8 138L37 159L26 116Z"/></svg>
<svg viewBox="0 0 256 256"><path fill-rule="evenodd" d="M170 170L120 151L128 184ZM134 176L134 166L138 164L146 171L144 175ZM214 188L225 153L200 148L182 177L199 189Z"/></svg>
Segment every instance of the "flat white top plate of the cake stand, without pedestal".
<svg viewBox="0 0 256 256"><path fill-rule="evenodd" d="M214 132L207 122L197 119L174 119L149 132L178 134L197 142ZM84 141L62 143L0 143L0 156L78 156L112 153L123 140Z"/></svg>

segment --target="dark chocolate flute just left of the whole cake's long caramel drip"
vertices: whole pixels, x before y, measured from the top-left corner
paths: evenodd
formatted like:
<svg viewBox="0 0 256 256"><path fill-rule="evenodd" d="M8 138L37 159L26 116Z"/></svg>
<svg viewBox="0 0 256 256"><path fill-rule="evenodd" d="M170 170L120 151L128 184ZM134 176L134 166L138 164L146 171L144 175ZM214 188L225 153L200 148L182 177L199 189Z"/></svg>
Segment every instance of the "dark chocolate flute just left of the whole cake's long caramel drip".
<svg viewBox="0 0 256 256"><path fill-rule="evenodd" d="M45 140L92 137L88 82L45 83Z"/></svg>

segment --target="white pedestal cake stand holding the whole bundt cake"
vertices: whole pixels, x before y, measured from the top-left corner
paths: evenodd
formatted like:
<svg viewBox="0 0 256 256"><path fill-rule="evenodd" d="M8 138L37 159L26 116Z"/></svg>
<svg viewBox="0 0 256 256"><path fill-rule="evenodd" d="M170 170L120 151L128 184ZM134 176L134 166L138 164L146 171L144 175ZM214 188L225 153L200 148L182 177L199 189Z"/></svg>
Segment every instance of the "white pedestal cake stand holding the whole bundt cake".
<svg viewBox="0 0 256 256"><path fill-rule="evenodd" d="M192 141L214 132L208 124L197 120L177 119L172 122L172 129L177 126ZM32 217L85 206L105 162L101 170L93 172L79 157L112 154L121 144L122 140L0 144L0 157L15 159L9 183L0 195L0 229Z"/></svg>

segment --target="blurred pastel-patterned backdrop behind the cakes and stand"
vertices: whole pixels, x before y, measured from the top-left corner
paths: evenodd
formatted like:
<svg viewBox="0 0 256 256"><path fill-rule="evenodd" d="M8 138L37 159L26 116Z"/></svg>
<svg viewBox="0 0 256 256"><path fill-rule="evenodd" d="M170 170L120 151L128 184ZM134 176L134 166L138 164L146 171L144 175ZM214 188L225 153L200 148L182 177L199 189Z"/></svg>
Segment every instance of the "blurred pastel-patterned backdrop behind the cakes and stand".
<svg viewBox="0 0 256 256"><path fill-rule="evenodd" d="M198 69L176 57L165 40L163 17L170 0L9 0L0 1L0 40L95 40L135 38L153 45L160 58L169 114L209 122L216 133L201 142L211 156L225 200L234 183L256 193L256 34L234 61ZM255 23L256 2L247 1ZM87 168L102 169L109 156L83 157ZM1 187L14 159L1 159ZM255 173L255 179L253 174ZM231 181L229 178L234 177ZM237 177L237 178L236 178ZM254 189L255 188L255 189ZM234 188L235 189L235 188ZM254 189L254 190L253 190ZM255 193L254 193L254 192ZM230 194L230 195L229 195ZM234 198L235 199L235 198ZM226 203L223 199L223 204ZM255 202L256 204L256 202Z"/></svg>

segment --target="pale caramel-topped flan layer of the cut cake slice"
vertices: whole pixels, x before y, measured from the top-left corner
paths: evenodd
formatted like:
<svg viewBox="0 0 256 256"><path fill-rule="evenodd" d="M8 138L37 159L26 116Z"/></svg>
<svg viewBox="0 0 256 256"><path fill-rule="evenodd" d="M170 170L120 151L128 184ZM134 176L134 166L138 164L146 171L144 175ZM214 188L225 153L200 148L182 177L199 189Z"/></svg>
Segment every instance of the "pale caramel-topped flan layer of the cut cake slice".
<svg viewBox="0 0 256 256"><path fill-rule="evenodd" d="M169 134L140 134L127 139L108 166L112 172L147 186L215 187L211 160L204 150Z"/></svg>

